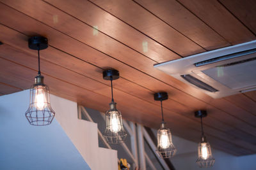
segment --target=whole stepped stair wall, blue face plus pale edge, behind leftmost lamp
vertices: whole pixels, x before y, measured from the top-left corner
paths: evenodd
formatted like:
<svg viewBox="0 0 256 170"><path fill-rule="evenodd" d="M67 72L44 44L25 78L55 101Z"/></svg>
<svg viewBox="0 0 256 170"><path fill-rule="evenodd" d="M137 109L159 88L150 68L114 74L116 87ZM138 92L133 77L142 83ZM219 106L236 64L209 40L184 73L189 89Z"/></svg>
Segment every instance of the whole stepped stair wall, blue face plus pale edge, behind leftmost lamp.
<svg viewBox="0 0 256 170"><path fill-rule="evenodd" d="M51 95L56 117L33 126L29 90L0 96L0 169L117 170L117 151L99 148L97 124L77 118L77 103Z"/></svg>

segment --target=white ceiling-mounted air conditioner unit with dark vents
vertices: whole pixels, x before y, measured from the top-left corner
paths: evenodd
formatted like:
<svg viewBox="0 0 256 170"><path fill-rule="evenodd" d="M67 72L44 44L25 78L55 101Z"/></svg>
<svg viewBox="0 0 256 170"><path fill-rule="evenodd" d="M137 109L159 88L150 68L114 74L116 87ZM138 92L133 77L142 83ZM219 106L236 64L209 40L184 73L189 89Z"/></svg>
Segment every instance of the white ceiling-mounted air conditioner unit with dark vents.
<svg viewBox="0 0 256 170"><path fill-rule="evenodd" d="M198 53L154 67L214 98L256 90L256 41Z"/></svg>

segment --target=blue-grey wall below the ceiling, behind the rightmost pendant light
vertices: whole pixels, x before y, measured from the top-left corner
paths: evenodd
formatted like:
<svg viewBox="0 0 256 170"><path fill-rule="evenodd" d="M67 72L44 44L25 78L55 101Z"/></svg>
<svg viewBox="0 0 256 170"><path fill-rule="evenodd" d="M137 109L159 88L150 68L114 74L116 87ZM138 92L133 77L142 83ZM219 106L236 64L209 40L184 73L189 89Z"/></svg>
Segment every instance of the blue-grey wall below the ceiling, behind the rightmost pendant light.
<svg viewBox="0 0 256 170"><path fill-rule="evenodd" d="M211 141L209 141L211 144ZM199 170L196 164L198 143L193 143L183 138L173 136L173 144L177 147L177 154L171 159L173 166L177 170ZM212 153L215 158L212 170L255 170L256 154L243 157L236 157L220 150L214 150Z"/></svg>

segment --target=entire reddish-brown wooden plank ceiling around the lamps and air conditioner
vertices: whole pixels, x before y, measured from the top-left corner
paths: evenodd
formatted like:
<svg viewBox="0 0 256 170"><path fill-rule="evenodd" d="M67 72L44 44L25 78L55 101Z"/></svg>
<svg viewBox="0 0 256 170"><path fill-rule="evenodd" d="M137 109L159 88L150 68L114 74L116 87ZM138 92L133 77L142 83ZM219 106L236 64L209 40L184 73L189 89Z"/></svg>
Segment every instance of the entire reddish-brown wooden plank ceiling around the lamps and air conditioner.
<svg viewBox="0 0 256 170"><path fill-rule="evenodd" d="M204 109L207 138L233 155L256 153L256 92L212 99L153 65L251 41L256 1L243 0L0 0L0 95L29 89L36 52L28 37L46 36L42 74L51 93L86 107L108 110L112 67L118 109L127 120L159 128L154 92L166 91L164 117L173 134L199 142L194 111ZM24 110L25 112L25 110ZM61 114L61 113L57 113Z"/></svg>

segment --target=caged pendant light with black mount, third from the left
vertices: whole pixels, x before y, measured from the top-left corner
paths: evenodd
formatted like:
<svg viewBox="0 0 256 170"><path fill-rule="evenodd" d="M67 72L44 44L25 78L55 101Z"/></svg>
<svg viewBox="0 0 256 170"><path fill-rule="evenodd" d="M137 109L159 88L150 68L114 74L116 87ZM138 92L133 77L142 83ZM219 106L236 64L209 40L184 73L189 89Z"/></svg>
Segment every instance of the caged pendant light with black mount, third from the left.
<svg viewBox="0 0 256 170"><path fill-rule="evenodd" d="M173 157L177 151L172 143L172 134L170 129L165 127L163 115L163 101L168 99L166 92L158 92L154 94L155 101L161 101L162 123L160 129L157 131L157 150L159 157L163 159Z"/></svg>

